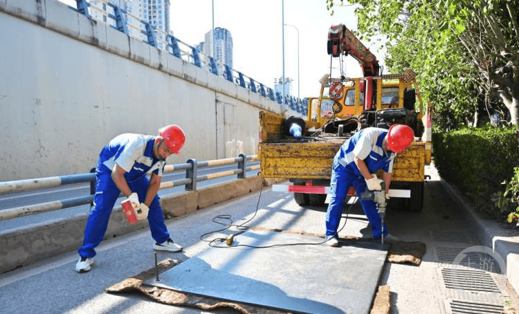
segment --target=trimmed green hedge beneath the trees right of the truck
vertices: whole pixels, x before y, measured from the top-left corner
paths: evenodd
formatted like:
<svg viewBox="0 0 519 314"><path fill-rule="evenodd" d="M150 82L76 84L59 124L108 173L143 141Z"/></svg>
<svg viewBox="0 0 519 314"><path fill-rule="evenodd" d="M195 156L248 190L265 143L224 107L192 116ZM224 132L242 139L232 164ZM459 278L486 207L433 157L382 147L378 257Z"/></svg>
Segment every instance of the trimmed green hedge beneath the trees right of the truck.
<svg viewBox="0 0 519 314"><path fill-rule="evenodd" d="M504 190L503 181L519 166L515 128L484 127L432 132L432 151L438 173L471 196L482 214L500 218L490 196Z"/></svg>

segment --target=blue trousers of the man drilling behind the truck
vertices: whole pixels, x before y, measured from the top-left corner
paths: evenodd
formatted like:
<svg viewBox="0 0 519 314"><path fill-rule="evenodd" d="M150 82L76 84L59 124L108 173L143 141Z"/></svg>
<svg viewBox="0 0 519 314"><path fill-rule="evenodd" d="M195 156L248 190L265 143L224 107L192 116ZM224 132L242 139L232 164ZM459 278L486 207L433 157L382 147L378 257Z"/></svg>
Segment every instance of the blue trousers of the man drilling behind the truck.
<svg viewBox="0 0 519 314"><path fill-rule="evenodd" d="M344 202L349 187L353 185L361 203L362 210L367 216L367 220L370 221L373 237L379 239L381 237L381 217L376 210L376 203L374 201L361 199L361 193L366 190L366 181L363 176L354 174L354 170L351 167L351 165L347 165L346 167L340 165L334 160L334 168L331 172L330 182L330 202L326 213L326 236L327 238L338 237L337 229L343 214ZM387 235L388 232L384 224L384 237Z"/></svg>

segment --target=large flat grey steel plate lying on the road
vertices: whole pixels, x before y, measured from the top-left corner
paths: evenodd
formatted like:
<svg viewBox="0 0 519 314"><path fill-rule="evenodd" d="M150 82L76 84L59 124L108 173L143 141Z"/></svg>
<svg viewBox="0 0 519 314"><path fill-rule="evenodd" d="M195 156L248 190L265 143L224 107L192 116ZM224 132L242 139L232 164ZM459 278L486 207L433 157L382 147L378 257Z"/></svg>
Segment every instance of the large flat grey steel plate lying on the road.
<svg viewBox="0 0 519 314"><path fill-rule="evenodd" d="M286 232L251 230L234 245L319 243ZM225 247L225 243L219 244ZM208 248L145 284L293 313L369 313L388 245L367 241L271 248Z"/></svg>

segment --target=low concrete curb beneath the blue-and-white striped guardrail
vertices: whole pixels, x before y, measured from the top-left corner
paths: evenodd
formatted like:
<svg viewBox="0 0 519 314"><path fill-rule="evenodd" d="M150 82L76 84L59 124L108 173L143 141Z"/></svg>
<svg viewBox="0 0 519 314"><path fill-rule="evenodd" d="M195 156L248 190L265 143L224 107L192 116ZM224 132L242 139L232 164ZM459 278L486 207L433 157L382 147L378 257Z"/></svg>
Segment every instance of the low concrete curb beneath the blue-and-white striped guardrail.
<svg viewBox="0 0 519 314"><path fill-rule="evenodd" d="M264 179L260 176L240 178L228 183L208 185L199 190L186 191L161 197L165 219L183 216L203 207L228 201L260 190L284 179ZM0 273L77 250L83 243L84 226L88 214L67 219L45 221L34 225L0 232ZM147 221L134 225L127 223L122 207L113 207L103 239L148 228Z"/></svg>

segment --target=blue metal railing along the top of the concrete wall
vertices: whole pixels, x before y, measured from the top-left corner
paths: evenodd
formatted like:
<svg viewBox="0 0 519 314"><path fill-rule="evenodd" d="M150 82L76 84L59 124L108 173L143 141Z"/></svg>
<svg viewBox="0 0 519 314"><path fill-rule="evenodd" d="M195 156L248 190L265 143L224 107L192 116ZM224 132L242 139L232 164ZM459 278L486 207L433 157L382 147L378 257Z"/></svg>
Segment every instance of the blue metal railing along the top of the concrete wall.
<svg viewBox="0 0 519 314"><path fill-rule="evenodd" d="M224 77L229 82L238 84L244 89L249 89L253 91L253 93L260 93L260 95L265 98L283 104L283 96L280 92L274 91L265 84L257 82L252 77L248 77L227 64L219 62L219 60L206 55L196 47L186 44L174 37L174 35L156 28L156 26L151 25L149 21L140 19L136 15L131 14L131 12L123 10L116 4L107 0L76 0L76 3L77 8L70 6L69 8L80 12L89 19L95 19L96 21L109 24L112 28L126 35L139 39L160 50L165 50L179 59L184 59L190 64L203 68L214 75ZM91 14L91 11L93 14ZM246 82L246 79L248 82ZM284 105L300 113L302 116L307 116L308 100L285 95Z"/></svg>

